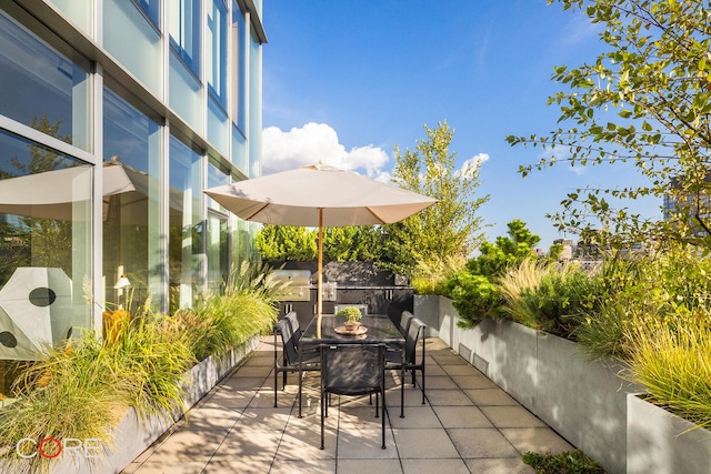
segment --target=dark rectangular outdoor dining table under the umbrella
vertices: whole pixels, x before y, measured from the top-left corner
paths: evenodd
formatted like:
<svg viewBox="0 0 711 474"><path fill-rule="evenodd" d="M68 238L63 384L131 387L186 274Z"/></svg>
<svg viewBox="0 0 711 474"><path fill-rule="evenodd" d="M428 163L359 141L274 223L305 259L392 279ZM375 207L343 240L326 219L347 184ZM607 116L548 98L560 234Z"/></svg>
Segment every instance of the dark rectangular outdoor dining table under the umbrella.
<svg viewBox="0 0 711 474"><path fill-rule="evenodd" d="M365 332L360 335L343 334L346 319L333 314L321 316L320 331L318 317L313 317L299 340L299 357L301 354L317 351L322 344L384 344L389 351L404 351L404 336L398 326L384 314L365 314L360 325ZM400 374L400 383L404 381L404 370ZM384 401L383 401L384 403ZM402 403L401 403L402 405ZM301 416L301 391L299 391L299 416ZM400 407L400 416L404 416L404 407Z"/></svg>

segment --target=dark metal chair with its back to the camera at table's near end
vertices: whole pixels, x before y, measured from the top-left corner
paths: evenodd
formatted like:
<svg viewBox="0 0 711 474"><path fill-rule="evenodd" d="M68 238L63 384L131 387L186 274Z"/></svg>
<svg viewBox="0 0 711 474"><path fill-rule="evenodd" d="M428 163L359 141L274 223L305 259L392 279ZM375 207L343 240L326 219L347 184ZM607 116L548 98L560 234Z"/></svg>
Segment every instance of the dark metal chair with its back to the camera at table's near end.
<svg viewBox="0 0 711 474"><path fill-rule="evenodd" d="M380 417L381 423L382 448L385 448L384 357L384 344L321 345L321 450L323 450L323 420L328 417L329 395L372 395L373 393L375 394L375 417Z"/></svg>

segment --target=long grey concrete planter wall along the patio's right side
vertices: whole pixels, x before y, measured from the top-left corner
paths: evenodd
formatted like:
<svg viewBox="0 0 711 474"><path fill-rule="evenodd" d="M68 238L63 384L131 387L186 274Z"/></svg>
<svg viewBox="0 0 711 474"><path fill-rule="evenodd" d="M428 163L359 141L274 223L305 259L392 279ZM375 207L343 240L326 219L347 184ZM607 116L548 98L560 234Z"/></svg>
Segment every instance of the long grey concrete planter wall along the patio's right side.
<svg viewBox="0 0 711 474"><path fill-rule="evenodd" d="M589 361L578 344L512 322L459 329L451 300L434 297L442 341L605 471L627 472L627 393L641 387L617 376L622 365ZM419 310L434 306L419 299L415 316L432 319Z"/></svg>

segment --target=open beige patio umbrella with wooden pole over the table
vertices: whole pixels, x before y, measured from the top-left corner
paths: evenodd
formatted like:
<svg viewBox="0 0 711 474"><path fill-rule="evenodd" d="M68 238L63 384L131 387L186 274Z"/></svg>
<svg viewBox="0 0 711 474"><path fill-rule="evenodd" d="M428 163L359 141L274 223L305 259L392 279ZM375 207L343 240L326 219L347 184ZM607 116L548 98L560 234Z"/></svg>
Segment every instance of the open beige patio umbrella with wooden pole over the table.
<svg viewBox="0 0 711 474"><path fill-rule="evenodd" d="M326 164L216 186L204 193L248 221L319 229L319 322L323 307L323 228L390 224L438 202Z"/></svg>

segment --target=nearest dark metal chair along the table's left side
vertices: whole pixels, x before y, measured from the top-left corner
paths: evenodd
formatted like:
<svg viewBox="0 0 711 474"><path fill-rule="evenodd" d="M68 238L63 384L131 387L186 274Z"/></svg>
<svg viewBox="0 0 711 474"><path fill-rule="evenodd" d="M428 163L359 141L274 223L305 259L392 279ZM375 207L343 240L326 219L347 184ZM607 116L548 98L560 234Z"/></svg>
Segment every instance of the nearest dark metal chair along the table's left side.
<svg viewBox="0 0 711 474"><path fill-rule="evenodd" d="M291 313L290 313L291 314ZM297 330L294 331L293 321L294 317L284 317L279 320L274 324L274 407L278 406L277 396L279 393L279 374L282 374L282 390L287 387L287 374L289 372L299 372L299 416L301 416L301 389L303 372L319 371L320 370L320 356L316 350L309 350L301 352L299 346L299 340L301 337L301 330L297 322ZM279 357L279 344L278 339L281 339L281 361Z"/></svg>

